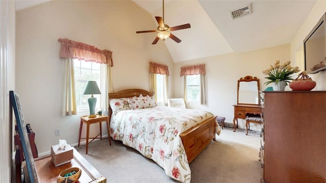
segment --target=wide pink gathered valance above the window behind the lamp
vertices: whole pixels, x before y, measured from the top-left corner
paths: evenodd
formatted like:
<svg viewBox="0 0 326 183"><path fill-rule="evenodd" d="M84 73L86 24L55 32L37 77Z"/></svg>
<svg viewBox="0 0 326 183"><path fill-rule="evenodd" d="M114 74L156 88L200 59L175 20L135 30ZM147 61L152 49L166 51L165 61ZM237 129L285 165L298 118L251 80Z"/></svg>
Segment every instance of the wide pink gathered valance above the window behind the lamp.
<svg viewBox="0 0 326 183"><path fill-rule="evenodd" d="M58 39L61 42L60 58L77 58L89 62L96 62L113 66L112 51L101 50L95 46L72 41L69 39Z"/></svg>

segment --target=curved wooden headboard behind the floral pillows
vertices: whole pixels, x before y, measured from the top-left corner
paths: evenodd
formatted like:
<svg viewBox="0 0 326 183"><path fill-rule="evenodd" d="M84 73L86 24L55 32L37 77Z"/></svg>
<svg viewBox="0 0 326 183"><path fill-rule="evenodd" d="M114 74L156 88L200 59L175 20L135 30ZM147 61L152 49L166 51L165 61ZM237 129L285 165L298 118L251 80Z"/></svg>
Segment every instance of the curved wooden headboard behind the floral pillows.
<svg viewBox="0 0 326 183"><path fill-rule="evenodd" d="M117 93L109 93L108 94L108 99L119 99L119 98L128 98L128 97L133 97L133 96L137 96L139 97L140 95L143 96L153 96L154 94L151 92L148 92L144 89L124 89L121 90L120 92ZM112 109L111 106L108 106L108 116L111 118L112 115Z"/></svg>

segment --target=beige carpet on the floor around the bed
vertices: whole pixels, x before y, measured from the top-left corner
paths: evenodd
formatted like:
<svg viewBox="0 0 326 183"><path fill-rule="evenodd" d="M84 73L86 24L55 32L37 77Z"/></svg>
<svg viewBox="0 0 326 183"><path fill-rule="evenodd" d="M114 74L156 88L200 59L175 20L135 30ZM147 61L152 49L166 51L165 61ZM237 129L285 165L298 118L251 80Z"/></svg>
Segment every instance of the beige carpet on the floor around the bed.
<svg viewBox="0 0 326 183"><path fill-rule="evenodd" d="M191 182L260 182L258 132L246 136L242 129L236 133L224 128L203 152L190 164ZM177 182L168 177L164 169L140 155L120 141L107 139L85 146L75 147L102 175L107 182Z"/></svg>

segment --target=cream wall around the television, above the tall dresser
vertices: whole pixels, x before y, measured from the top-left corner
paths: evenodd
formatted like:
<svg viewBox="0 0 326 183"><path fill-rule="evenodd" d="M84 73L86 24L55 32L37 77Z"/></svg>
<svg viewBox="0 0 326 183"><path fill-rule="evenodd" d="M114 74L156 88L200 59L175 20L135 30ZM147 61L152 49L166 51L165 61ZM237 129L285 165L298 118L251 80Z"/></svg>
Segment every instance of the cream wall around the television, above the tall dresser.
<svg viewBox="0 0 326 183"><path fill-rule="evenodd" d="M303 46L303 40L310 33L312 28L316 25L316 23L319 21L319 19L325 12L326 1L318 0L312 8L311 12L309 13L307 19L302 24L295 37L291 41L291 59L296 60L296 62L301 65L302 70L304 69L304 60L298 60L296 52L297 50L300 50L300 48ZM303 54L303 52L301 53ZM313 90L326 90L326 71L321 71L317 74L312 74L309 76L317 83L316 87Z"/></svg>

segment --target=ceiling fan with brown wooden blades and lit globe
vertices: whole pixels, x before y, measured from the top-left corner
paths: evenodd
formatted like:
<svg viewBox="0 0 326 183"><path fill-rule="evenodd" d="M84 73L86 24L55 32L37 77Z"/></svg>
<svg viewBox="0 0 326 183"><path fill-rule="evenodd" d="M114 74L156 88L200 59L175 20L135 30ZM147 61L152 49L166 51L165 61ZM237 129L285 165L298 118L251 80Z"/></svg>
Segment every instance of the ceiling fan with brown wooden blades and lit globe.
<svg viewBox="0 0 326 183"><path fill-rule="evenodd" d="M156 44L157 41L159 39L161 40L166 40L168 37L170 37L171 39L173 39L175 42L180 43L181 40L179 38L177 38L176 36L174 36L173 34L171 34L171 31L177 31L180 29L184 29L184 28L190 28L190 24L183 24L183 25L178 25L178 26L174 26L174 27L170 27L167 24L164 24L164 0L163 0L163 17L155 17L157 23L158 23L158 27L157 30L151 30L151 31L137 31L136 33L154 33L157 32L157 37L154 39L154 41L152 42L152 44Z"/></svg>

